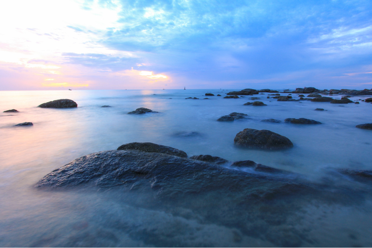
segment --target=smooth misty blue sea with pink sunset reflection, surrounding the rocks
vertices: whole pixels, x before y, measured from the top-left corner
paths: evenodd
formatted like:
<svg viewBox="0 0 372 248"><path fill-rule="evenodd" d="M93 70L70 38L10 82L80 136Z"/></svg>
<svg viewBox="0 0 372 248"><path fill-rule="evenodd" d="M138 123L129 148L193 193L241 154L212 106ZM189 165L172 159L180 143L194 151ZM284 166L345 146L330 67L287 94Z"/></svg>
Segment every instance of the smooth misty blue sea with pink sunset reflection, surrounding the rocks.
<svg viewBox="0 0 372 248"><path fill-rule="evenodd" d="M273 96L267 98L272 93L224 99L232 90L0 91L0 247L372 247L371 184L327 173L344 168L372 170L372 131L355 127L372 122L372 104L362 101L371 96L349 98L359 104L278 102ZM299 99L295 93L292 97ZM78 107L38 107L57 99L74 100ZM254 101L267 106L243 105ZM128 114L139 107L157 113ZM3 112L9 109L19 112ZM232 112L249 118L217 121ZM301 117L322 124L284 122ZM15 126L23 122L33 126ZM245 128L279 133L294 147L278 151L237 147L235 135ZM189 205L172 206L164 205L150 188L143 194L94 187L35 187L44 175L81 156L130 142L171 146L189 157L208 154L231 163L252 160L301 175L311 183L329 180L337 187L355 187L363 200L340 204L343 195L335 194L322 203L309 196L307 202L288 205L285 223L268 222L283 216L280 209L264 216L263 209L270 206L263 202L257 208L260 214L247 219L251 230L262 232L250 233L235 224L234 218L241 218L239 206L224 209L232 216L228 221L221 212L209 218L213 207L205 213L193 207L211 202L210 198L195 196ZM221 166L230 168L230 164ZM229 197L233 203L234 195Z"/></svg>

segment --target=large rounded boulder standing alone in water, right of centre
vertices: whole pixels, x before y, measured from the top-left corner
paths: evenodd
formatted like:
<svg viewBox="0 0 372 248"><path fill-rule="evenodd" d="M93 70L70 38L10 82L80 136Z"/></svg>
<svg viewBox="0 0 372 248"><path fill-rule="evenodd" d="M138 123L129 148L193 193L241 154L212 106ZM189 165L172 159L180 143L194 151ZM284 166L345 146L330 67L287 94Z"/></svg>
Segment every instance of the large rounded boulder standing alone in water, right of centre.
<svg viewBox="0 0 372 248"><path fill-rule="evenodd" d="M292 142L278 133L269 130L246 128L234 138L236 145L248 148L283 149L293 147Z"/></svg>

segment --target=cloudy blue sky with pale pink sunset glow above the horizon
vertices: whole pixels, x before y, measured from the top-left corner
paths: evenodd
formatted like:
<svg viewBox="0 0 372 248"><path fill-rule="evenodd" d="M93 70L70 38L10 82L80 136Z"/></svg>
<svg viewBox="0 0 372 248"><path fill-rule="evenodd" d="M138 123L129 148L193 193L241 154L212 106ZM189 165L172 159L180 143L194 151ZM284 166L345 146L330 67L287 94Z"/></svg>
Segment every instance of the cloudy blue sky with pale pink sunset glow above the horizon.
<svg viewBox="0 0 372 248"><path fill-rule="evenodd" d="M371 0L4 0L0 90L372 88Z"/></svg>

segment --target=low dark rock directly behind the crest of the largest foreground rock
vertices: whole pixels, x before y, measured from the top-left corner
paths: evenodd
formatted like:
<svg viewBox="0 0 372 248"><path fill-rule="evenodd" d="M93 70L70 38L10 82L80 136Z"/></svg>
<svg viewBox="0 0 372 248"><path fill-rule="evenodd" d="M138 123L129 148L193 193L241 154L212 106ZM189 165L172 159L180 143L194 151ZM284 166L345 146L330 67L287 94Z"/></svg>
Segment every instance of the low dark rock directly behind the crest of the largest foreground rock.
<svg viewBox="0 0 372 248"><path fill-rule="evenodd" d="M187 158L187 154L184 151L181 151L170 146L158 145L151 142L132 142L119 146L118 150L139 150L143 152L158 152L174 155L177 157Z"/></svg>

